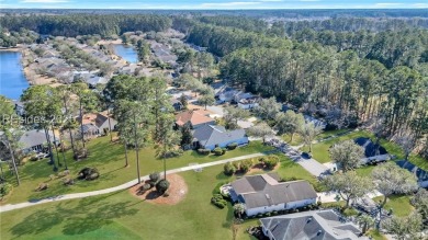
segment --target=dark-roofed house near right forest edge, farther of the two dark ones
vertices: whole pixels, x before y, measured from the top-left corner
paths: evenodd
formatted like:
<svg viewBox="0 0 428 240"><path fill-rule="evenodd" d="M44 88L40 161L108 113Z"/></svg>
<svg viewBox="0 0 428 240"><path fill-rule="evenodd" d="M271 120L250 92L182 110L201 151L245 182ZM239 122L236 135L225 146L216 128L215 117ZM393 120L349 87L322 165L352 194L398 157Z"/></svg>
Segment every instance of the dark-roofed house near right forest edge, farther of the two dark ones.
<svg viewBox="0 0 428 240"><path fill-rule="evenodd" d="M374 144L370 138L359 137L353 140L357 145L364 148L365 158L361 159L363 164L370 162L382 162L391 159L386 149L379 144Z"/></svg>

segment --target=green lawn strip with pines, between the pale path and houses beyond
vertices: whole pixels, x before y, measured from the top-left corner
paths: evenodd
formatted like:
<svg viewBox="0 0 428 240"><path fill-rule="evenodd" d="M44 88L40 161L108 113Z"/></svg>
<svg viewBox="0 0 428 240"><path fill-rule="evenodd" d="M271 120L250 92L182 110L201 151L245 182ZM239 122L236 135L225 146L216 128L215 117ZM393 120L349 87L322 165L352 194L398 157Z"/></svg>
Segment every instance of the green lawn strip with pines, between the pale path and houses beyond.
<svg viewBox="0 0 428 240"><path fill-rule="evenodd" d="M128 168L123 168L125 164L124 149L122 145L110 142L110 137L101 137L91 140L88 144L90 157L81 161L71 159L71 152L67 152L67 162L72 178L85 167L95 167L101 176L98 181L87 182L77 181L72 186L64 186L61 179L49 181L49 175L53 174L52 165L47 164L47 159L37 162L27 162L20 167L21 185L15 186L13 193L8 197L9 203L20 203L31 199L38 199L58 194L88 192L116 186L127 181L136 179L136 157L135 151L129 151ZM172 158L167 161L168 169L176 169L185 167L189 163L210 162L237 156L244 156L255 152L271 150L271 147L266 147L259 141L254 141L247 147L238 148L233 151L227 151L224 156L200 156L195 151L185 151L179 158ZM153 171L162 170L162 161L156 159L154 148L145 148L139 151L140 173L148 174ZM64 170L64 167L61 168ZM14 178L7 171L7 178L14 183ZM34 190L40 183L47 182L49 188L43 192L35 192Z"/></svg>

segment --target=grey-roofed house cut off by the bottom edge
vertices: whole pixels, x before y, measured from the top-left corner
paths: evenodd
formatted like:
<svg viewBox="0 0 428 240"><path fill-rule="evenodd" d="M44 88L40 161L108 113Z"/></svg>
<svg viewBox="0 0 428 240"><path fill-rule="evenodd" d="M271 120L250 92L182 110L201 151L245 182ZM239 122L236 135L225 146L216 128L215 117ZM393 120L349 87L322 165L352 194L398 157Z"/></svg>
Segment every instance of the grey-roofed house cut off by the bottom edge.
<svg viewBox="0 0 428 240"><path fill-rule="evenodd" d="M311 210L260 219L262 232L270 240L358 240L357 225L343 221L333 209Z"/></svg>

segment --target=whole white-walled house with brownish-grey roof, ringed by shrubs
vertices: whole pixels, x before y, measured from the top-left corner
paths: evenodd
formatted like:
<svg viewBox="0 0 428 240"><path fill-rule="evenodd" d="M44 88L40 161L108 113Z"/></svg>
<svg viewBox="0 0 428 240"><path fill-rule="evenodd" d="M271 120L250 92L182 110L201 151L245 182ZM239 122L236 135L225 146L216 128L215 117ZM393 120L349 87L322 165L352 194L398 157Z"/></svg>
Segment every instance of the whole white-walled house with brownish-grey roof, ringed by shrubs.
<svg viewBox="0 0 428 240"><path fill-rule="evenodd" d="M234 202L245 205L247 216L295 209L316 204L317 194L307 181L280 182L277 173L248 175L232 183Z"/></svg>

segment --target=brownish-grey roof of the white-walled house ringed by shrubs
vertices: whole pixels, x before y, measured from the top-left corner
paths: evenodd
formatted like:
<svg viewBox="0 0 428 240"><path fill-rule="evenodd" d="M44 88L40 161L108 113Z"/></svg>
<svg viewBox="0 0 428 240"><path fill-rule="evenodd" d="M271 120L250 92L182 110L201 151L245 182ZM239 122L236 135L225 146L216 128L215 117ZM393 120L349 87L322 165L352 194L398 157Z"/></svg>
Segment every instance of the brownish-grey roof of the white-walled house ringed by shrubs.
<svg viewBox="0 0 428 240"><path fill-rule="evenodd" d="M278 175L261 174L245 176L232 183L241 195L247 208L286 204L316 198L314 187L307 181L279 182Z"/></svg>

